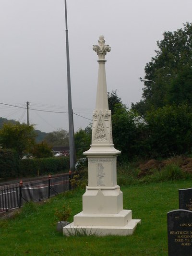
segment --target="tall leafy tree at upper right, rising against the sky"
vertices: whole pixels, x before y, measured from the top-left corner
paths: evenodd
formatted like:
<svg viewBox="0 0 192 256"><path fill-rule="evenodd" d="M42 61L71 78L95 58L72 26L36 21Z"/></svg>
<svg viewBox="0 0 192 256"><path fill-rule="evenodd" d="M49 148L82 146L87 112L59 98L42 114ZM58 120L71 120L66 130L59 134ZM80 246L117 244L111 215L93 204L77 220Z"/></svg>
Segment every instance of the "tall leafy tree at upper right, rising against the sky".
<svg viewBox="0 0 192 256"><path fill-rule="evenodd" d="M178 96L177 103L186 102L192 93L192 23L183 24L174 32L164 32L163 37L157 41L156 56L144 69L145 79L155 83L144 82L143 99L132 104L141 114L170 105Z"/></svg>

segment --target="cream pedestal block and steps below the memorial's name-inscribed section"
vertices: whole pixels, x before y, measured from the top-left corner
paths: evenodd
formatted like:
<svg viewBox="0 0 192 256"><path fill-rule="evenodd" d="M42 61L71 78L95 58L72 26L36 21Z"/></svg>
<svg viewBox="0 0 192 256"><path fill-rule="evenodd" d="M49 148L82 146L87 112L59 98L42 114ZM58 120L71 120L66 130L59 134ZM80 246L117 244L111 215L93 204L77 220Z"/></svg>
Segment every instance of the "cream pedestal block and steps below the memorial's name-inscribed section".
<svg viewBox="0 0 192 256"><path fill-rule="evenodd" d="M86 187L83 211L63 228L63 234L77 233L105 235L132 235L140 219L132 219L131 210L123 210L122 192L114 187Z"/></svg>

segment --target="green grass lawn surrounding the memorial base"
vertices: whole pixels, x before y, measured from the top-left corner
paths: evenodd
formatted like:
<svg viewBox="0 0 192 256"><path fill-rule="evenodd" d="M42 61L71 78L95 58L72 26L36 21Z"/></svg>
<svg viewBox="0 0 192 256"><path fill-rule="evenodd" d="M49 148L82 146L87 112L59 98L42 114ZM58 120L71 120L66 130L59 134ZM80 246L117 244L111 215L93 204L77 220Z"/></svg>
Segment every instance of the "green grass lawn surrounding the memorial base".
<svg viewBox="0 0 192 256"><path fill-rule="evenodd" d="M0 256L167 256L167 212L179 208L178 190L190 180L122 186L123 208L142 219L132 236L65 237L56 231L56 208L82 210L84 190L27 204L14 219L0 220Z"/></svg>

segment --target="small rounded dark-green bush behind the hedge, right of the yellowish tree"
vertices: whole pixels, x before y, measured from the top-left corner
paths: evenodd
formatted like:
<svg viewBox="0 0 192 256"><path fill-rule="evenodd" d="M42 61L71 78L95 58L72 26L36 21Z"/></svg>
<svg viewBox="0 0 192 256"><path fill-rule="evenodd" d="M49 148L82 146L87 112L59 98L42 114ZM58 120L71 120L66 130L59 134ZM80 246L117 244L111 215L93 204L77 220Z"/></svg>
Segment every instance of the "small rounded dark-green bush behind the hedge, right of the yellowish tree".
<svg viewBox="0 0 192 256"><path fill-rule="evenodd" d="M45 141L34 145L32 154L35 158L49 158L53 156L51 147Z"/></svg>

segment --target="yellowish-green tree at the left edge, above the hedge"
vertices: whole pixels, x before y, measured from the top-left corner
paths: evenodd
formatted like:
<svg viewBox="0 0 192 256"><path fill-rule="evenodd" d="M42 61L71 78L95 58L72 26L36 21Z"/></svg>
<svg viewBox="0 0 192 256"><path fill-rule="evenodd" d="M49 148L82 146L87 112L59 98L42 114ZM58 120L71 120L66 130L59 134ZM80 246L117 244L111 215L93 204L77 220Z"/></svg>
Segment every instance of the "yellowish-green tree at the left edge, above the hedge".
<svg viewBox="0 0 192 256"><path fill-rule="evenodd" d="M8 122L4 123L0 130L0 146L15 150L19 158L31 152L35 144L35 138L34 125Z"/></svg>

